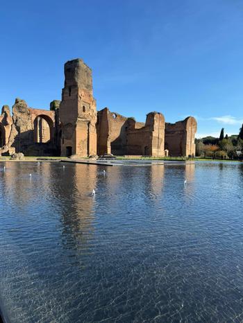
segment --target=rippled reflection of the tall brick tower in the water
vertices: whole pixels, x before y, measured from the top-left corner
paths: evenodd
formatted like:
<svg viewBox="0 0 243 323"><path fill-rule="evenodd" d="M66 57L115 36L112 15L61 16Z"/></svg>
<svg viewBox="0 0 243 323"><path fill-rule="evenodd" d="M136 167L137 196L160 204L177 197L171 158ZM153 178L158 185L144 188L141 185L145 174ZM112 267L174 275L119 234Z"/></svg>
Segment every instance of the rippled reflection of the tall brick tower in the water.
<svg viewBox="0 0 243 323"><path fill-rule="evenodd" d="M97 184L97 166L72 164L61 171L62 182L53 183L52 193L59 200L62 243L72 250L86 250L94 232L91 192Z"/></svg>

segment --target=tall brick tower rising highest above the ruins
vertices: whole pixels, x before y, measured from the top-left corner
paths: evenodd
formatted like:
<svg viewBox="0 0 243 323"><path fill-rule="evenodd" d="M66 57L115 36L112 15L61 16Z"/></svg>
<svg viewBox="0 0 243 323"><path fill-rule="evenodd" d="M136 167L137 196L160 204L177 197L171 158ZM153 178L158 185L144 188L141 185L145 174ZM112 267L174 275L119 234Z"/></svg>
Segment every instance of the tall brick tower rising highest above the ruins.
<svg viewBox="0 0 243 323"><path fill-rule="evenodd" d="M60 103L61 156L97 154L97 107L92 71L77 58L65 63L65 85Z"/></svg>

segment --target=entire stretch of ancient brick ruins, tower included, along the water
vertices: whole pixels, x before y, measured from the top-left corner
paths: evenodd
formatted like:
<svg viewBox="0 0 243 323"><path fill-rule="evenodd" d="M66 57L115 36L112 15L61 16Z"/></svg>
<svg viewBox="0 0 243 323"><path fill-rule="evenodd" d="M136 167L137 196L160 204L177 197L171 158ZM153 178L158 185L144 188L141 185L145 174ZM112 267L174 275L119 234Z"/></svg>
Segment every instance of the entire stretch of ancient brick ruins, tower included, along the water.
<svg viewBox="0 0 243 323"><path fill-rule="evenodd" d="M195 155L196 120L165 123L160 112L149 112L145 123L110 112L97 112L92 71L81 59L65 63L62 101L50 110L28 107L16 98L12 116L8 105L0 115L0 153L26 156Z"/></svg>

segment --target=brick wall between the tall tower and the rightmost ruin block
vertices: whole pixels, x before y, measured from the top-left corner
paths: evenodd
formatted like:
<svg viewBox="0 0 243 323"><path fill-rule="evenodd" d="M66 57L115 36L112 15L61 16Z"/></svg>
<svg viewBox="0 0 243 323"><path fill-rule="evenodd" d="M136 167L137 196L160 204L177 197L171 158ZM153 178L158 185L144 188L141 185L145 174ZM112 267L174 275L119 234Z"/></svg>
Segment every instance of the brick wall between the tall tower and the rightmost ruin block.
<svg viewBox="0 0 243 323"><path fill-rule="evenodd" d="M151 112L144 125L106 107L98 112L97 136L99 155L164 156L165 118Z"/></svg>

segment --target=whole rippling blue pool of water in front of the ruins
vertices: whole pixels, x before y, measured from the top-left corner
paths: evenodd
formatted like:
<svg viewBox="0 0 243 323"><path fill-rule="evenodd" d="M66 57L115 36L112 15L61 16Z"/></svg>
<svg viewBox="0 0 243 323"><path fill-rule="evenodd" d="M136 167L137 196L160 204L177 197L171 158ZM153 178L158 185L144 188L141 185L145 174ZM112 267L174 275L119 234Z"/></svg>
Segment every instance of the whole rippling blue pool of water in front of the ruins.
<svg viewBox="0 0 243 323"><path fill-rule="evenodd" d="M17 323L242 322L242 188L237 163L106 175L0 164L3 312Z"/></svg>

